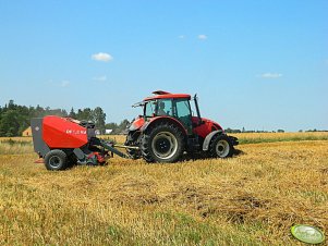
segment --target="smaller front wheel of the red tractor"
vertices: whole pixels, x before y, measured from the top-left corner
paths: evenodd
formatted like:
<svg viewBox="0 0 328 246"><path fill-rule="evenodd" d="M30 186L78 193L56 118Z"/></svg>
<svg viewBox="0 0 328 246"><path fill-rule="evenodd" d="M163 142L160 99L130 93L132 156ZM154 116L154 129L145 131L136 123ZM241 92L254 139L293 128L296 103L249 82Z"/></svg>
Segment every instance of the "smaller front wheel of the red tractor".
<svg viewBox="0 0 328 246"><path fill-rule="evenodd" d="M233 145L227 135L216 135L209 144L209 155L214 158L232 157L234 152Z"/></svg>

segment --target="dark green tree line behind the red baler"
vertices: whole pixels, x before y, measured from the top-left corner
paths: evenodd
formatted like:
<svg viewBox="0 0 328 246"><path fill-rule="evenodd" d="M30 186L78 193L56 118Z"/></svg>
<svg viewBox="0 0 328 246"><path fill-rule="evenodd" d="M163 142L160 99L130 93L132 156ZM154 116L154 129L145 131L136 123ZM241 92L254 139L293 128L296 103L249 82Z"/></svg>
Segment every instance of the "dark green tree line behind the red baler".
<svg viewBox="0 0 328 246"><path fill-rule="evenodd" d="M42 118L46 115L69 116L80 121L92 121L96 124L96 128L99 130L100 134L105 134L106 128L112 130L111 134L121 134L130 124L127 120L123 120L120 124L106 124L106 113L100 107L96 107L95 109L77 109L76 111L72 108L70 112L66 112L64 109L50 109L49 107L20 106L10 100L3 107L0 106L0 137L21 136L23 131L29 126L32 118Z"/></svg>

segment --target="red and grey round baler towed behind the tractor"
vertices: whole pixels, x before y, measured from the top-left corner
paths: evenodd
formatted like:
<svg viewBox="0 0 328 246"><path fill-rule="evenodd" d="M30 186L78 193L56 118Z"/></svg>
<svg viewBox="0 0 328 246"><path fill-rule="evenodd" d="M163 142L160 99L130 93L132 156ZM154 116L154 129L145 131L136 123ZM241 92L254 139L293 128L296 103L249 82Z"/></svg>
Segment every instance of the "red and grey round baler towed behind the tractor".
<svg viewBox="0 0 328 246"><path fill-rule="evenodd" d="M71 164L105 164L109 151L126 157L113 144L96 137L95 124L49 115L31 121L34 150L49 170Z"/></svg>

